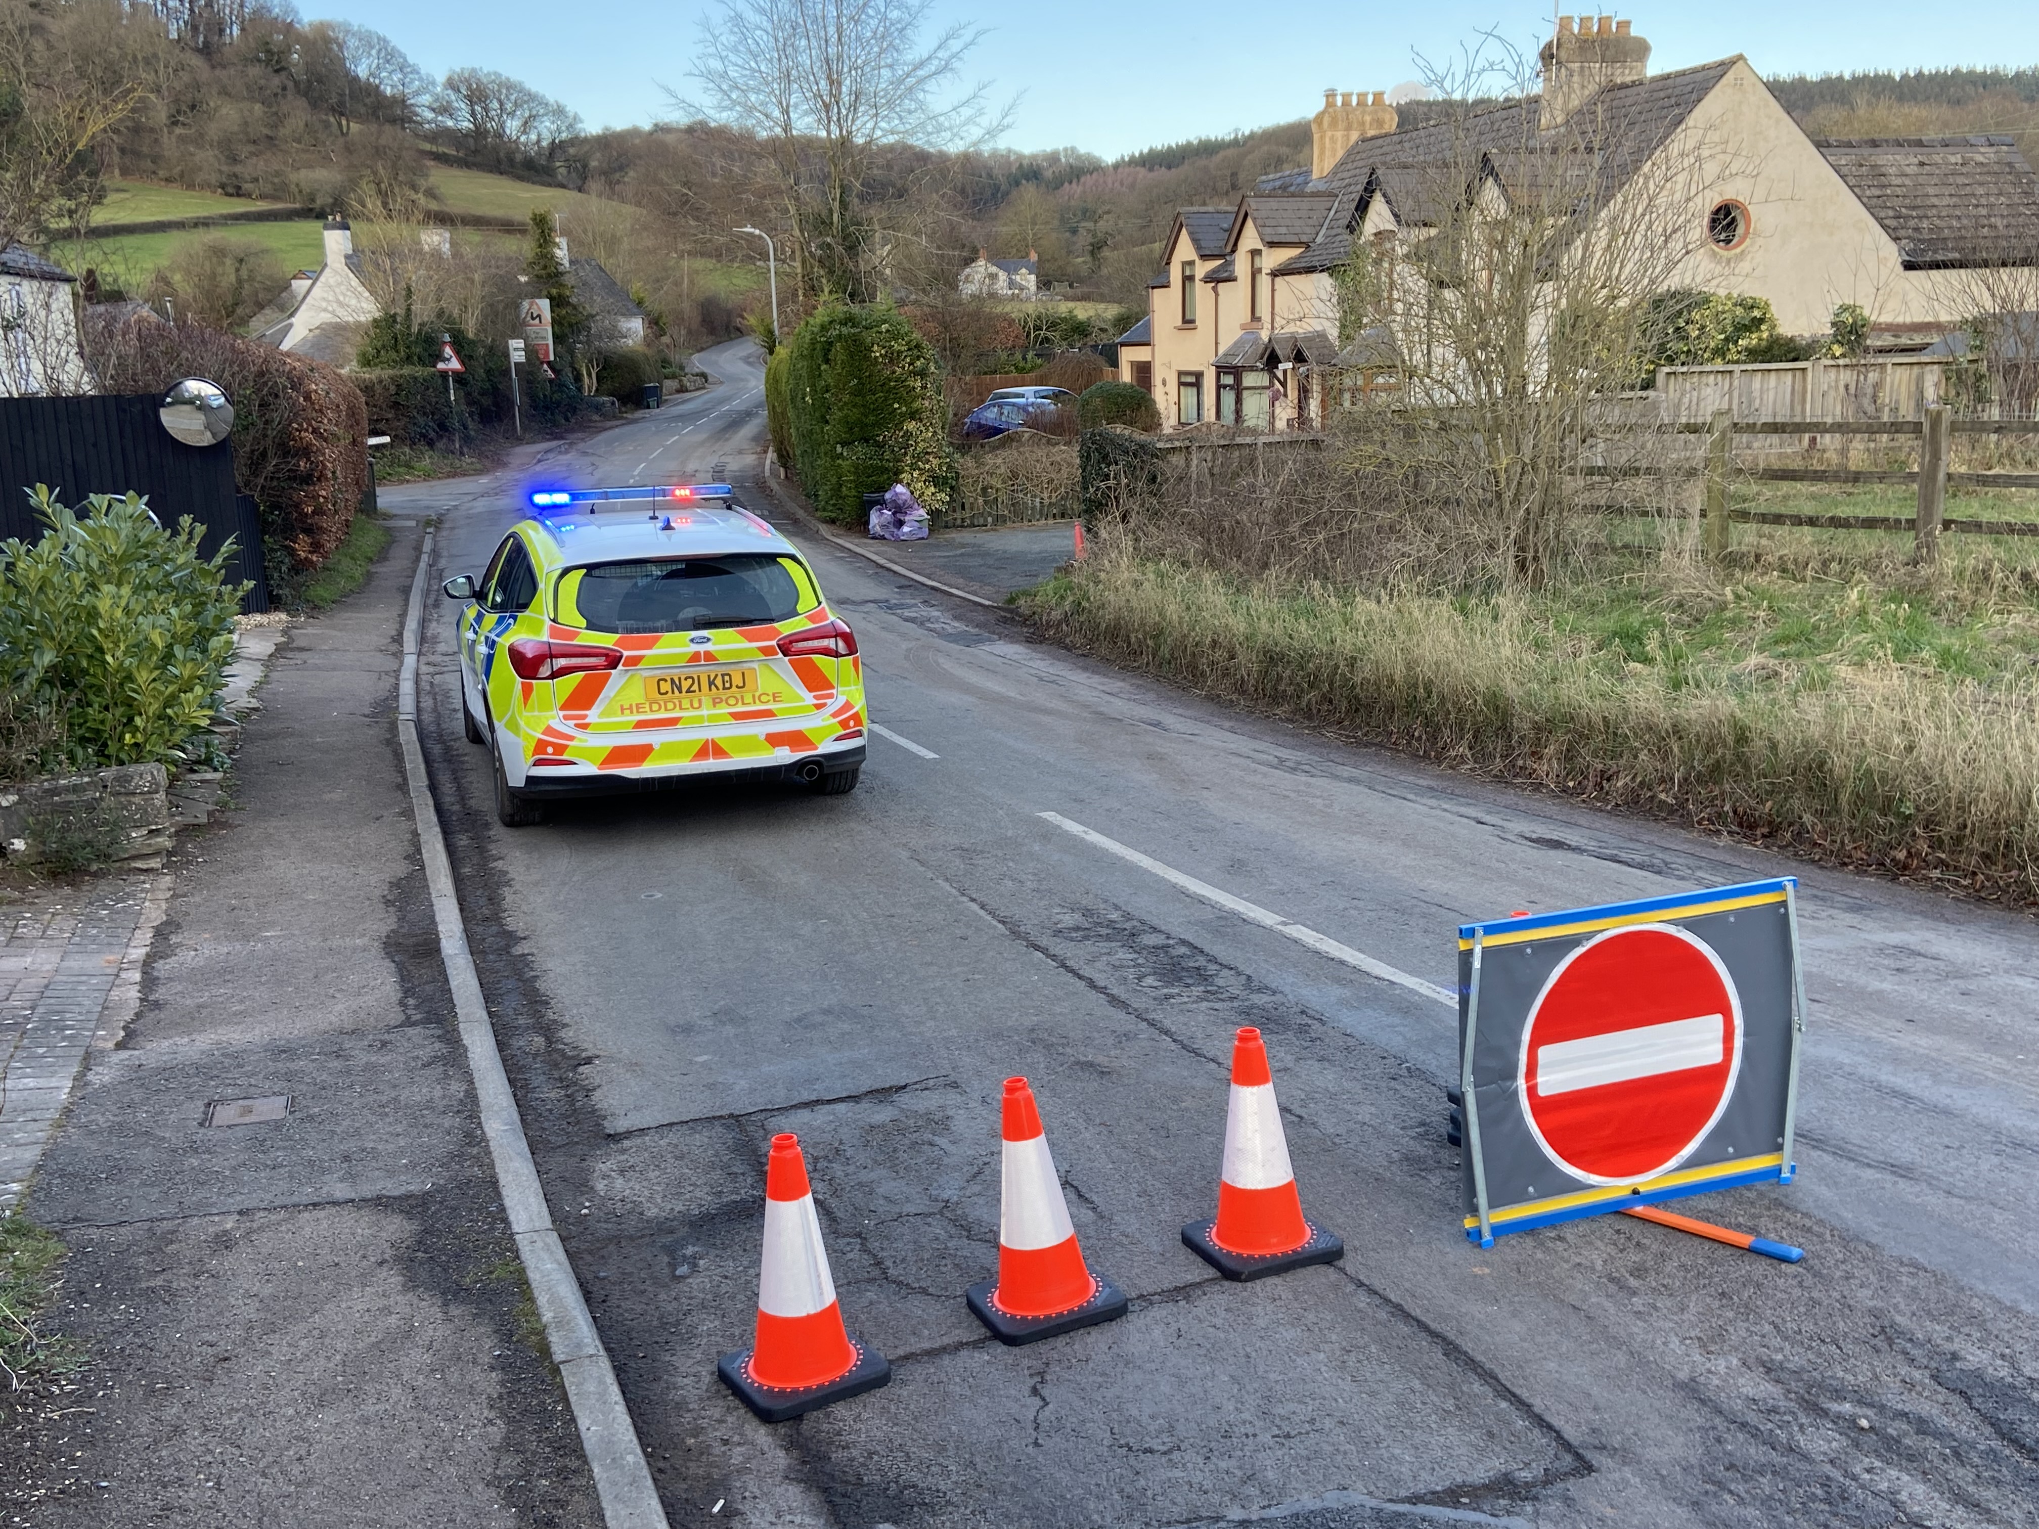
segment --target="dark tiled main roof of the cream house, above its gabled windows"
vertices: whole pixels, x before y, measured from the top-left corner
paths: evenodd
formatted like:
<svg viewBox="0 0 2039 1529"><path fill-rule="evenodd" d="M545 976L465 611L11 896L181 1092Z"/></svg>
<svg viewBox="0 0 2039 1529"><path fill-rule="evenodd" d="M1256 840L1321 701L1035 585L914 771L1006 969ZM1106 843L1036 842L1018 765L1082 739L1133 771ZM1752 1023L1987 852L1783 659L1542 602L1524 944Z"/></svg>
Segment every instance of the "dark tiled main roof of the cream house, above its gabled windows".
<svg viewBox="0 0 2039 1529"><path fill-rule="evenodd" d="M1387 198L1403 226L1435 224L1480 173L1495 173L1517 196L1574 175L1597 196L1611 196L1735 63L1739 57L1605 86L1556 128L1544 128L1541 102L1525 98L1407 133L1360 139L1321 181L1336 198L1325 234L1278 269L1283 275L1327 271L1346 259L1346 232L1374 196Z"/></svg>

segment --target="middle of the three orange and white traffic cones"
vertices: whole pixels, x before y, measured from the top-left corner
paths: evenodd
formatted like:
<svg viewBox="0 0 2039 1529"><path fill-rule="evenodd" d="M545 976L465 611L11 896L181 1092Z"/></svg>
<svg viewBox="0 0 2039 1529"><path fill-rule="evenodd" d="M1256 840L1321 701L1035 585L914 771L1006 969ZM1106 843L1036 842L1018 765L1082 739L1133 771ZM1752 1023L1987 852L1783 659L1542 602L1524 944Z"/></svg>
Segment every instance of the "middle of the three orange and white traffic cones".
<svg viewBox="0 0 2039 1529"><path fill-rule="evenodd" d="M1001 1343L1123 1317L1126 1293L1083 1262L1026 1078L1005 1078L1001 1136L999 1276L962 1293L971 1311Z"/></svg>

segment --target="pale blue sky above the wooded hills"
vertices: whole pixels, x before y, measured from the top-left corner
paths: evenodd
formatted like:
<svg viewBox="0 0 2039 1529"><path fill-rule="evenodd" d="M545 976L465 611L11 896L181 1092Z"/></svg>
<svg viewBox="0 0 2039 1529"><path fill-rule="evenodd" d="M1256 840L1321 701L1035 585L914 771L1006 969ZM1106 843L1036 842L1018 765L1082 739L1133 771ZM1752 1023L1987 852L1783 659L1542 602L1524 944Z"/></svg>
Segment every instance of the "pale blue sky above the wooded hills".
<svg viewBox="0 0 2039 1529"><path fill-rule="evenodd" d="M387 33L432 73L463 63L502 69L573 106L589 126L669 116L661 86L687 88L705 0L569 4L557 0L300 0L304 16ZM973 77L1020 96L1013 149L1075 145L1105 157L1156 143L1307 116L1325 88L1387 90L1419 77L1415 55L1456 57L1495 31L1531 51L1550 8L1503 0L1431 4L1248 6L1240 0L936 0L946 20L997 18ZM2039 65L2039 4L1921 0L1851 4L1648 6L1633 14L1650 67L1745 53L1762 73L1841 73L1939 65ZM569 22L569 24L563 24ZM1309 29L1307 41L1301 41ZM1254 37L1264 43L1254 43ZM1168 80L1162 88L1158 82Z"/></svg>

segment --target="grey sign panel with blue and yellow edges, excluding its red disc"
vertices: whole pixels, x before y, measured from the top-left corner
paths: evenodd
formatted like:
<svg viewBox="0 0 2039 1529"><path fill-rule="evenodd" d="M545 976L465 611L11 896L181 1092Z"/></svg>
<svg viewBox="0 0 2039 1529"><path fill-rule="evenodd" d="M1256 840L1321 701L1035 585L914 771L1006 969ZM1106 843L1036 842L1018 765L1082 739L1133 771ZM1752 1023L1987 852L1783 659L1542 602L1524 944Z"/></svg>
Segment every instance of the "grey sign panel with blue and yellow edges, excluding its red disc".
<svg viewBox="0 0 2039 1529"><path fill-rule="evenodd" d="M1743 1009L1743 1066L1721 1117L1670 1172L1592 1184L1535 1140L1517 1058L1550 972L1609 930L1668 926L1713 950ZM1464 1101L1466 1237L1493 1248L1509 1231L1607 1215L1737 1184L1784 1182L1798 1113L1805 977L1798 879L1648 897L1631 903L1488 919L1458 930L1460 1097ZM1544 1180L1539 1191L1535 1180ZM1564 1184L1552 1193L1552 1184Z"/></svg>

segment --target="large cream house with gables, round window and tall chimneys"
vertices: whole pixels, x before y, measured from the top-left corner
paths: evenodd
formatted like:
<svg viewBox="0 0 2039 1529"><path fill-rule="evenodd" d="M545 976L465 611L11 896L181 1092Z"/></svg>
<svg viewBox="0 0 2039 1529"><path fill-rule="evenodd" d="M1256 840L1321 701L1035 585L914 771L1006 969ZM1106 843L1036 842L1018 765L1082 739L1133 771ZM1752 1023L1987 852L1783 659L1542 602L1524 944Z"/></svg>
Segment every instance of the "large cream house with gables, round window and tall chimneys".
<svg viewBox="0 0 2039 1529"><path fill-rule="evenodd" d="M2039 269L2039 175L2010 139L1815 143L1747 59L1652 75L1650 43L1611 16L1560 16L1539 57L1535 96L1429 126L1327 92L1307 171L1258 181L1221 239L1211 208L1185 208L1148 289L1164 422L1309 424L1356 249L1393 257L1462 210L1537 200L1658 228L1658 289L1766 298L1788 334L1860 304L1919 347L2033 306L1996 296ZM1368 371L1391 371L1397 336L1362 338Z"/></svg>

